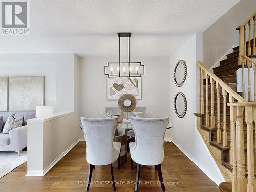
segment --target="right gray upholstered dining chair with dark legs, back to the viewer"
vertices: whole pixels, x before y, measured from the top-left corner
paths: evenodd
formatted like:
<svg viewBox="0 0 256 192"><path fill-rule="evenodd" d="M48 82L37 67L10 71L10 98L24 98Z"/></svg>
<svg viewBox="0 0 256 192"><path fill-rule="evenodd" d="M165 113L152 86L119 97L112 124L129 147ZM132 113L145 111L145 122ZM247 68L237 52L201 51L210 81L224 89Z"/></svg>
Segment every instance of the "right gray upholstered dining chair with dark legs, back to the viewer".
<svg viewBox="0 0 256 192"><path fill-rule="evenodd" d="M136 183L134 191L138 191L141 165L155 166L161 188L165 191L161 163L164 158L164 133L169 118L137 118L131 117L135 133L135 142L130 143L132 161L137 163Z"/></svg>

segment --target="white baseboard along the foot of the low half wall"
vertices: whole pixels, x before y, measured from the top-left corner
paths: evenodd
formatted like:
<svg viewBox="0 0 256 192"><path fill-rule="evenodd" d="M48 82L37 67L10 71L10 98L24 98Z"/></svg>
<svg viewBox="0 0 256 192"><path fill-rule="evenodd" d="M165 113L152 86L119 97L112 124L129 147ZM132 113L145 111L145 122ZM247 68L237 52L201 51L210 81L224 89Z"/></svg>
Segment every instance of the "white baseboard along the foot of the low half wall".
<svg viewBox="0 0 256 192"><path fill-rule="evenodd" d="M27 171L27 174L25 176L32 177L32 176L44 176L49 170L57 163L59 162L67 153L69 153L70 150L79 142L84 140L83 138L77 139L72 145L70 145L65 152L60 154L50 165L48 165L44 170L32 170Z"/></svg>

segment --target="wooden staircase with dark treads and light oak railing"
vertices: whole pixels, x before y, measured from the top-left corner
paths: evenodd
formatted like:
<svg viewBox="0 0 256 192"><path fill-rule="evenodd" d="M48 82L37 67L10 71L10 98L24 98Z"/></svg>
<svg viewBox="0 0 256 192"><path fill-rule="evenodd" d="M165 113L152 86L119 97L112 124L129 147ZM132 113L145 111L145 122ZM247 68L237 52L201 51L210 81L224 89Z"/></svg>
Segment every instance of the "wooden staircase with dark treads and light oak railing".
<svg viewBox="0 0 256 192"><path fill-rule="evenodd" d="M256 191L256 61L253 60L256 58L256 12L236 29L239 46L220 61L213 73L197 61L199 102L195 115L197 129L226 181L220 184L220 190L253 192ZM237 93L239 68L242 68L241 93ZM254 93L251 70L254 71ZM248 100L245 100L246 75Z"/></svg>

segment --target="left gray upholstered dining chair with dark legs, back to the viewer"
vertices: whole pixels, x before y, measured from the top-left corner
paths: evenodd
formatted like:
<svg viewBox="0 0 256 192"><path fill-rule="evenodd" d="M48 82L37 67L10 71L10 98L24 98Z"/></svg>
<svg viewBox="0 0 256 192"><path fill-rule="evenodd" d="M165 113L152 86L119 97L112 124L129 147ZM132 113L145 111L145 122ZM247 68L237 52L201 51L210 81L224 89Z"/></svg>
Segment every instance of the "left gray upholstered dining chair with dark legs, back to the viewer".
<svg viewBox="0 0 256 192"><path fill-rule="evenodd" d="M118 117L110 119L92 119L81 117L84 138L86 139L86 161L89 164L89 175L86 190L89 190L95 165L109 165L114 184L113 166L120 154L121 143L113 142Z"/></svg>

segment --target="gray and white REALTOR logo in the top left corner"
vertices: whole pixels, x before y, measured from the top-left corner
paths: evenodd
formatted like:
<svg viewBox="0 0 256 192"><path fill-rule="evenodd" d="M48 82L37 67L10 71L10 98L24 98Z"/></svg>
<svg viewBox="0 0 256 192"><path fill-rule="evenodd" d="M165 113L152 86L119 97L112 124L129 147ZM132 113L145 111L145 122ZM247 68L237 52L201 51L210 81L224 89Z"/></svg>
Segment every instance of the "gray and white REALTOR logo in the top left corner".
<svg viewBox="0 0 256 192"><path fill-rule="evenodd" d="M1 1L1 35L29 35L28 0Z"/></svg>

